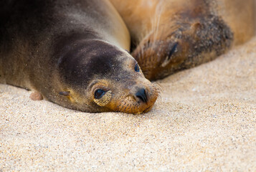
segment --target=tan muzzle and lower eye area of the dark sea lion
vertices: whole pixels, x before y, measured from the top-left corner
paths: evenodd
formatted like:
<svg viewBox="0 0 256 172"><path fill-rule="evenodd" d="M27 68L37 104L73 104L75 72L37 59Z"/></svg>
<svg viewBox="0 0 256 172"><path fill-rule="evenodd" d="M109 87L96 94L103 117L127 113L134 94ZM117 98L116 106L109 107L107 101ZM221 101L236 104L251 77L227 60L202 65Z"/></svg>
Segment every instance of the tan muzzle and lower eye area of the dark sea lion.
<svg viewBox="0 0 256 172"><path fill-rule="evenodd" d="M146 113L158 97L158 87L143 77L133 77L123 82L113 79L97 80L92 87L91 97L95 109L123 113Z"/></svg>

